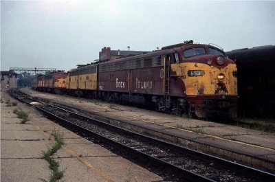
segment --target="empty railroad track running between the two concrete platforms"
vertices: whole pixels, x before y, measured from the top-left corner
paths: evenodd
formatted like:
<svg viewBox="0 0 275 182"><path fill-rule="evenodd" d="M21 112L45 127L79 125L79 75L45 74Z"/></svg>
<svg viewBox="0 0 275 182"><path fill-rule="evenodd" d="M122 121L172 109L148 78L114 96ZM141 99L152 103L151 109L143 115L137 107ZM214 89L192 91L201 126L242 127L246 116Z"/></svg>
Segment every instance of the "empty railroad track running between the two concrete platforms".
<svg viewBox="0 0 275 182"><path fill-rule="evenodd" d="M183 148L169 142L125 130L99 120L74 113L62 106L34 100L18 91L11 93L22 102L32 104L40 111L55 117L61 124L78 133L92 136L116 150L157 164L171 172L173 181L275 181L275 175L232 161ZM34 103L35 102L35 103Z"/></svg>

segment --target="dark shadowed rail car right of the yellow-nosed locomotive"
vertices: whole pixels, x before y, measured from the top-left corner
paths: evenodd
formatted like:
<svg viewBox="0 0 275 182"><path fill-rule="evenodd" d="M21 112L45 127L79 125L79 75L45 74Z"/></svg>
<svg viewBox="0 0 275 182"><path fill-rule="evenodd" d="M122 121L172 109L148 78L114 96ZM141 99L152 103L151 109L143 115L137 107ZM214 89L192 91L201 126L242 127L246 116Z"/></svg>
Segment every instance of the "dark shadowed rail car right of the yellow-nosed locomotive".
<svg viewBox="0 0 275 182"><path fill-rule="evenodd" d="M275 45L226 54L238 67L239 116L275 117Z"/></svg>

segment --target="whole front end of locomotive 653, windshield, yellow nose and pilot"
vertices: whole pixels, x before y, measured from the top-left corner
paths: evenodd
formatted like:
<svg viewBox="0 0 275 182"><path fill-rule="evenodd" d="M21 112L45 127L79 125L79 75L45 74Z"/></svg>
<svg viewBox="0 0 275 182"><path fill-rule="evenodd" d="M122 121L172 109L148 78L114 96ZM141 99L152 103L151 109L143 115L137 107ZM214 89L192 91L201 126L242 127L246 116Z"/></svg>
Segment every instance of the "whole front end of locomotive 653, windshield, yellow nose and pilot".
<svg viewBox="0 0 275 182"><path fill-rule="evenodd" d="M184 110L197 117L236 117L237 68L225 53L211 45L184 46L179 63L171 64L173 76L184 82ZM187 106L187 108L186 108Z"/></svg>

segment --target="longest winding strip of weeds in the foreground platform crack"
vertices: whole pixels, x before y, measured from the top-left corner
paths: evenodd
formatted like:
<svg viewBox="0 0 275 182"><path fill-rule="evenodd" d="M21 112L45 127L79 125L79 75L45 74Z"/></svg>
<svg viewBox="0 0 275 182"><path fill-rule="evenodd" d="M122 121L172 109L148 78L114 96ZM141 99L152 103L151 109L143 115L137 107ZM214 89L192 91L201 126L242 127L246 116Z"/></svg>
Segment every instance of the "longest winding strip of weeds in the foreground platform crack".
<svg viewBox="0 0 275 182"><path fill-rule="evenodd" d="M56 143L51 148L48 148L46 152L43 152L43 159L45 159L50 164L49 168L50 170L52 170L50 182L55 182L60 180L63 177L64 171L63 170L61 171L58 169L60 163L58 161L55 161L52 158L52 155L54 155L54 153L61 148L61 146L64 144L64 139L63 139L63 135L56 132L56 130L52 132L51 136L54 137L54 140L56 141ZM46 182L45 179L40 179L40 180Z"/></svg>

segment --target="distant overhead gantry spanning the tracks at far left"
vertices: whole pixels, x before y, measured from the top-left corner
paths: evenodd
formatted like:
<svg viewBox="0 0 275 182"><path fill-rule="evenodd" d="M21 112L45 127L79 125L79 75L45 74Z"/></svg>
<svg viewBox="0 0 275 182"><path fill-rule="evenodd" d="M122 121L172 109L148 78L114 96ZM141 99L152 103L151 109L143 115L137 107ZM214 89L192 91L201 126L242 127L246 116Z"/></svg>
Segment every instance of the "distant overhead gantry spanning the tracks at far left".
<svg viewBox="0 0 275 182"><path fill-rule="evenodd" d="M25 67L10 67L10 71L18 74L28 74L28 75L36 75L36 74L46 74L50 72L56 71L55 68L25 68Z"/></svg>

